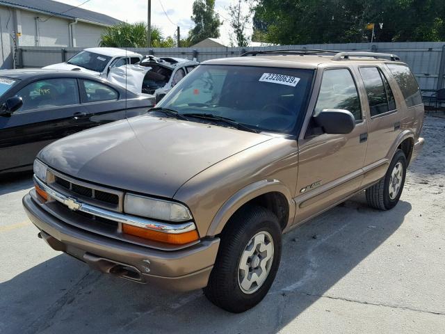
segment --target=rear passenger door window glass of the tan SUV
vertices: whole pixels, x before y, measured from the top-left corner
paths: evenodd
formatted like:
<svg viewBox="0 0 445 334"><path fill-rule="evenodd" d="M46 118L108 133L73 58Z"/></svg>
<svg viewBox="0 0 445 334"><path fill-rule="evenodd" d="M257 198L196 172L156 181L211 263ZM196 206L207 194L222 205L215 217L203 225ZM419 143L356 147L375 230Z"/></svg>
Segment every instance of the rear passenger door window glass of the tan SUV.
<svg viewBox="0 0 445 334"><path fill-rule="evenodd" d="M380 70L378 70L377 67L360 67L359 71L362 75L364 87L366 88L371 117L394 110L394 96L392 95L387 80L382 77ZM385 81L385 84L383 81ZM385 88L385 86L387 86L387 88ZM388 93L387 89L389 89ZM391 107L388 103L389 100L392 100Z"/></svg>

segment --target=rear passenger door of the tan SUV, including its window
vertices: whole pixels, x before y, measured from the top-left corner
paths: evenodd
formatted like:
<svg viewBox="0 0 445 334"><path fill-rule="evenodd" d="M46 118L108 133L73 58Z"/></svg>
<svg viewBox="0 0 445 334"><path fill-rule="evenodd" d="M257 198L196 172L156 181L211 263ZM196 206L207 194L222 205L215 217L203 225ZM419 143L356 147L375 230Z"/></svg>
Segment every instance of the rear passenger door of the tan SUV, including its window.
<svg viewBox="0 0 445 334"><path fill-rule="evenodd" d="M366 90L368 124L368 150L364 163L364 182L378 180L385 174L388 152L400 133L401 119L388 74L379 66L360 66L360 77ZM390 158L389 158L390 159Z"/></svg>

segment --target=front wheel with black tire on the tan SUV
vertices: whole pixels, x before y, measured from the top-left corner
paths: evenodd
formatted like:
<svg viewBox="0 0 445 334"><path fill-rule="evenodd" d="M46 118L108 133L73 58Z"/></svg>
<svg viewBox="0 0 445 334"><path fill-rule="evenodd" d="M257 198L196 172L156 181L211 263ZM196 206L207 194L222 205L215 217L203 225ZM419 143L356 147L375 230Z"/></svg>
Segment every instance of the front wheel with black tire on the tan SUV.
<svg viewBox="0 0 445 334"><path fill-rule="evenodd" d="M255 246L261 239L265 243ZM261 250L262 253L251 254L254 249ZM205 296L213 304L229 312L239 313L253 308L266 296L275 279L280 266L281 249L282 230L277 216L264 207L241 208L221 233L216 262L209 284L204 287ZM259 260L261 255L262 260ZM241 261L246 259L247 261ZM240 269L240 265L248 269L249 273ZM263 272L266 272L266 276L260 284L254 282L250 289L243 289L249 285L249 280L244 280L244 276L260 278ZM252 276L254 273L257 276Z"/></svg>

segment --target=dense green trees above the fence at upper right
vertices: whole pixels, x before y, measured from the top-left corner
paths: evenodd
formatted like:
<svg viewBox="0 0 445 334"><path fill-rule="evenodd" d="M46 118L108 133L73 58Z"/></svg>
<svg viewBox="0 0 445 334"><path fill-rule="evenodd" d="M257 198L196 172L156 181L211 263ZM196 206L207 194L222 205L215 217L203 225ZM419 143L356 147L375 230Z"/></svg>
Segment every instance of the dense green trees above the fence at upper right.
<svg viewBox="0 0 445 334"><path fill-rule="evenodd" d="M254 35L280 44L445 39L443 0L259 0ZM383 23L380 29L379 23Z"/></svg>

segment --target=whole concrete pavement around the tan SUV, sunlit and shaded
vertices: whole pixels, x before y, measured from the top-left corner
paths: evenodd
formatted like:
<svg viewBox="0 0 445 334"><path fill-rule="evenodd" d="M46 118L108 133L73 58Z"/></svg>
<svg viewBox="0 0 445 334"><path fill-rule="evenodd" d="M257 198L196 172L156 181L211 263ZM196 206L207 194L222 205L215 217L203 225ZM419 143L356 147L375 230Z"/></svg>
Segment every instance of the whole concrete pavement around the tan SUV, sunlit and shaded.
<svg viewBox="0 0 445 334"><path fill-rule="evenodd" d="M426 118L391 211L360 195L286 234L270 293L239 315L51 250L22 209L30 175L3 181L0 333L445 333L444 133L445 119Z"/></svg>

